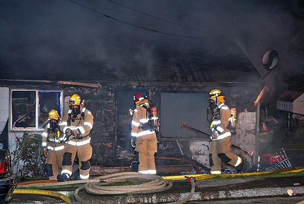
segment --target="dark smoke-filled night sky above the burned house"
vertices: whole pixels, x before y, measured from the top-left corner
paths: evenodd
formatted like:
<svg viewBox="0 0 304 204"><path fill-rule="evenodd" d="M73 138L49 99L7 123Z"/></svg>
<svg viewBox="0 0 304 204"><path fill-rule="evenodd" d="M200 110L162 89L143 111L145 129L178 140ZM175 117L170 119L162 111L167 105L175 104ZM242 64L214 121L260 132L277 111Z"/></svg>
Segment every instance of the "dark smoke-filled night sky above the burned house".
<svg viewBox="0 0 304 204"><path fill-rule="evenodd" d="M154 51L201 50L232 39L260 76L262 57L280 59L265 81L304 70L302 1L0 1L0 79L108 80L153 67ZM205 45L208 48L208 45ZM140 64L124 70L126 64ZM275 82L277 83L277 81Z"/></svg>

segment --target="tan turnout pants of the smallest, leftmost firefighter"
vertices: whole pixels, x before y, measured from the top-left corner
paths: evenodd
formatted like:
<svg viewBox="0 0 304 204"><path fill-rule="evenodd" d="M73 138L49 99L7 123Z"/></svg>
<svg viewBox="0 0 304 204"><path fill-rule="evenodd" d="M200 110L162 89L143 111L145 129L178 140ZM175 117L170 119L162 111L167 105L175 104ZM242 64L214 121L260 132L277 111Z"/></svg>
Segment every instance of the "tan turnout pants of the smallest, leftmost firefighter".
<svg viewBox="0 0 304 204"><path fill-rule="evenodd" d="M60 168L62 167L63 161L63 150L53 151L48 150L47 155L47 170L49 180L57 181L57 175L60 174Z"/></svg>

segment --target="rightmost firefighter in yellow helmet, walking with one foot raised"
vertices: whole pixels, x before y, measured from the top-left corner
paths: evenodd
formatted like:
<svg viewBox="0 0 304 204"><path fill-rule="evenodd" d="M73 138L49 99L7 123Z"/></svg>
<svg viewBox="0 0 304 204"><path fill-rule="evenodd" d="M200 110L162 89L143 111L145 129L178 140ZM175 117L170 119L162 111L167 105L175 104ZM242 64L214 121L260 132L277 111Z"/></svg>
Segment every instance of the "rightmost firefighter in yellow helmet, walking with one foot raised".
<svg viewBox="0 0 304 204"><path fill-rule="evenodd" d="M218 89L213 89L209 93L209 110L213 110L210 129L211 147L209 152L210 174L221 174L221 160L235 166L237 171L241 171L243 160L232 153L231 130L229 129L231 110L225 105L225 96Z"/></svg>

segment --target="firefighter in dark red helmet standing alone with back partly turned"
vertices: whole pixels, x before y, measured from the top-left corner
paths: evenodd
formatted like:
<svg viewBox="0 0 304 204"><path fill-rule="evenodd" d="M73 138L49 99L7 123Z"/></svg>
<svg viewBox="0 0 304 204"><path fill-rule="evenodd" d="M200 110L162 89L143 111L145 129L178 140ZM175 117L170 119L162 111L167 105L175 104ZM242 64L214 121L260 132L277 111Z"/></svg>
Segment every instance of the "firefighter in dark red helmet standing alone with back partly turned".
<svg viewBox="0 0 304 204"><path fill-rule="evenodd" d="M140 93L135 93L133 99L136 108L131 122L131 145L138 152L138 172L156 174L154 154L157 152L157 138L156 130L150 125L147 114L150 104Z"/></svg>

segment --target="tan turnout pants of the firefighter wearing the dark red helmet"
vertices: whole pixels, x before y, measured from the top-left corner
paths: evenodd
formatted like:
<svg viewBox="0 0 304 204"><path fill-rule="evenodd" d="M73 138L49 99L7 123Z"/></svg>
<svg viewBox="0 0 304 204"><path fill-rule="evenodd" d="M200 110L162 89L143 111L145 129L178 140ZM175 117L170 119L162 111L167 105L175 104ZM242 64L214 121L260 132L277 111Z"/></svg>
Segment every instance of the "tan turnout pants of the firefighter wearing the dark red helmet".
<svg viewBox="0 0 304 204"><path fill-rule="evenodd" d="M146 134L136 138L135 151L138 152L138 172L143 174L156 174L154 154L157 152L156 134Z"/></svg>

